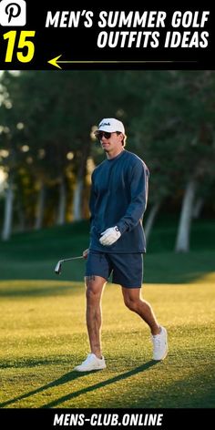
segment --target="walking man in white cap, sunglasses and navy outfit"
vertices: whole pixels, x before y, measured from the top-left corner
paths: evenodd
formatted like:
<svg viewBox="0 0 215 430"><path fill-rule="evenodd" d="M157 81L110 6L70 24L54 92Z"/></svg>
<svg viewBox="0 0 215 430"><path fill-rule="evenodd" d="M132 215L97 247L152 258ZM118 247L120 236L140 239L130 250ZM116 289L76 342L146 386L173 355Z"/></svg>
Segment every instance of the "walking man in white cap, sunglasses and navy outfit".
<svg viewBox="0 0 215 430"><path fill-rule="evenodd" d="M137 155L125 149L125 128L116 118L104 118L95 132L107 159L92 174L89 209L91 229L87 258L87 333L91 352L77 365L78 372L106 368L101 351L101 297L105 284L121 285L128 309L148 324L153 359L168 353L167 331L161 327L148 302L141 298L142 254L146 252L142 228L148 200L148 168Z"/></svg>

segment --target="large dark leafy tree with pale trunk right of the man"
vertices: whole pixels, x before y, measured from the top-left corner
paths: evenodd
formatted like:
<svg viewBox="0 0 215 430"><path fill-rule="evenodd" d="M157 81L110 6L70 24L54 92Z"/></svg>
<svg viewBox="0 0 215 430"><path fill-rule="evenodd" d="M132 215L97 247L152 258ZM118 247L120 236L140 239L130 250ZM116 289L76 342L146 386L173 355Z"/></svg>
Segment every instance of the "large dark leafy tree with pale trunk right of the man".
<svg viewBox="0 0 215 430"><path fill-rule="evenodd" d="M176 251L189 251L195 194L214 164L214 72L145 72L130 88L142 97L131 129L152 172L150 226L160 200L184 189Z"/></svg>

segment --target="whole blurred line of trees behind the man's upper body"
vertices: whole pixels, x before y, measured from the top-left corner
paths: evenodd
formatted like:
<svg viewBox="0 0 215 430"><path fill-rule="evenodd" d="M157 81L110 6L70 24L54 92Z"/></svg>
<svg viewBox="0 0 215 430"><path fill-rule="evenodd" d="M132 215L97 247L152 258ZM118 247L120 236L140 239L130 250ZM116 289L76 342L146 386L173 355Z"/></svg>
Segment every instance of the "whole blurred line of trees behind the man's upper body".
<svg viewBox="0 0 215 430"><path fill-rule="evenodd" d="M90 176L104 159L93 131L125 124L128 150L150 171L146 235L165 200L179 201L176 251L212 201L214 71L22 71L0 82L2 240L13 229L87 219Z"/></svg>

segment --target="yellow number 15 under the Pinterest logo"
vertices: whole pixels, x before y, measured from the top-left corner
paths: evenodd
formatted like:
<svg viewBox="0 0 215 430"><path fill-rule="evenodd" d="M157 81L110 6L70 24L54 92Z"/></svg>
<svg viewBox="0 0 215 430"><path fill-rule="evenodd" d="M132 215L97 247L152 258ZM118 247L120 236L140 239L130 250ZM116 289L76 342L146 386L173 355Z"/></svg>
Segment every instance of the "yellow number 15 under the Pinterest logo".
<svg viewBox="0 0 215 430"><path fill-rule="evenodd" d="M26 40L26 37L34 37L36 34L35 31L21 31L18 44L17 44L17 59L21 63L29 63L29 61L32 60L34 54L35 54L35 45L31 40ZM7 48L6 48L6 55L5 55L5 63L11 63L13 54L14 54L14 48L15 48L15 37L16 37L16 31L8 31L8 33L5 33L4 39L8 39L7 42ZM24 50L24 48L26 48ZM23 49L23 52L22 52Z"/></svg>

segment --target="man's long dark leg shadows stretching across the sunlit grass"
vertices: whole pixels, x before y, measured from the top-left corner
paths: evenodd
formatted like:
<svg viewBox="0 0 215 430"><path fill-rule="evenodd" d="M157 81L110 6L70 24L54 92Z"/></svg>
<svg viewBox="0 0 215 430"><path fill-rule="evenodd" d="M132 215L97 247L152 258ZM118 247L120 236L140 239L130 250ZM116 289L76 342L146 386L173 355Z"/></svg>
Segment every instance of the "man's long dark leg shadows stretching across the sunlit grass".
<svg viewBox="0 0 215 430"><path fill-rule="evenodd" d="M152 367L153 365L158 364L158 363L159 362L155 362L153 360L150 360L148 363L142 364L141 366L138 366L135 369L130 370L129 372L126 372L125 374L118 374L118 376L114 376L113 378L107 379L107 381L102 381L101 383L94 384L94 385L88 386L86 388L82 388L81 390L78 390L75 393L64 395L64 396L60 397L59 399L54 400L53 402L45 404L44 406L42 406L42 408L55 407L58 404L62 404L64 402L67 402L67 400L71 400L73 398L76 398L81 394L86 394L86 393L89 393L91 391L95 391L98 388L107 386L109 384L117 383L118 381L129 378L130 376L133 376L134 374L139 374L140 372L144 372L144 371L148 370L150 367ZM94 371L93 373L97 373L97 372L99 372L99 371ZM92 374L92 372L90 374ZM24 400L27 397L31 397L32 395L41 393L45 390L48 390L49 388L56 387L58 385L67 384L71 381L75 381L76 379L78 379L80 377L87 376L87 375L88 375L88 372L79 373L76 371L69 372L68 374L63 374L63 376L56 379L55 381L53 381L50 384L43 385L40 388L36 388L36 390L29 391L26 394L18 395L17 397L14 397L11 400L7 400L6 402L0 403L0 407L5 407L5 406L9 406L11 404L15 404L16 402L19 402L20 400Z"/></svg>

